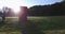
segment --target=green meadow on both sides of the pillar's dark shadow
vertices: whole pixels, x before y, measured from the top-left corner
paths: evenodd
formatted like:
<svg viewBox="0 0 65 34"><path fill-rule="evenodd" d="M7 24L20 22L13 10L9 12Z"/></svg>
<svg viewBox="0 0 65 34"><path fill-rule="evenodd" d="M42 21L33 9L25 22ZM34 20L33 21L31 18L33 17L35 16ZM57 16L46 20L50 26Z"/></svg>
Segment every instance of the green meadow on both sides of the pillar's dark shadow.
<svg viewBox="0 0 65 34"><path fill-rule="evenodd" d="M65 32L65 16L28 16L27 20L39 24L46 34L52 34L54 32ZM1 17L0 17L1 22ZM17 23L18 17L6 17L5 23L0 28L0 34L21 34L21 32L15 28L10 28L11 23ZM10 23L10 24L9 24ZM13 26L13 24L12 24Z"/></svg>

